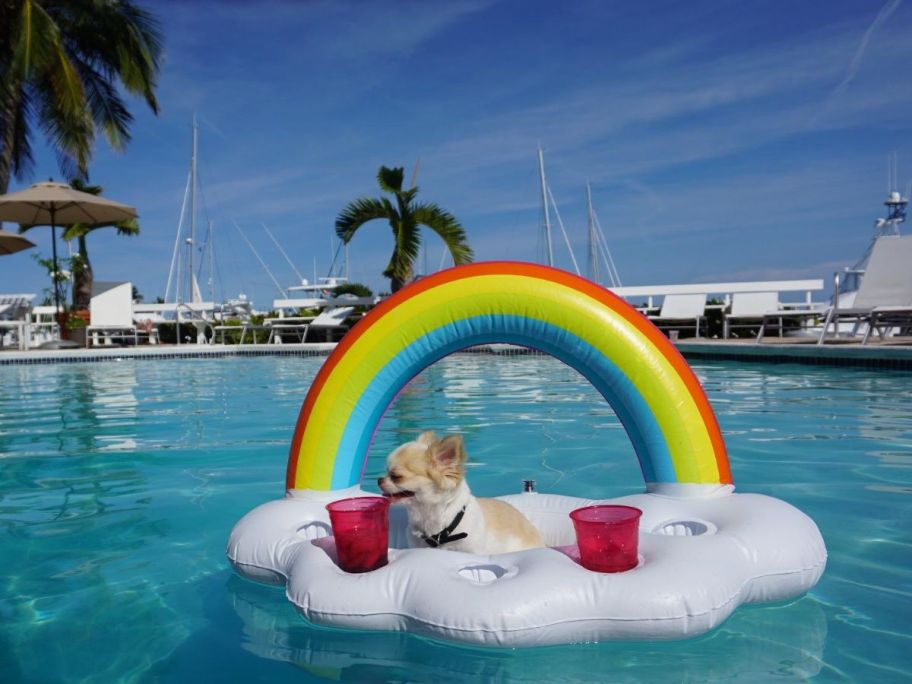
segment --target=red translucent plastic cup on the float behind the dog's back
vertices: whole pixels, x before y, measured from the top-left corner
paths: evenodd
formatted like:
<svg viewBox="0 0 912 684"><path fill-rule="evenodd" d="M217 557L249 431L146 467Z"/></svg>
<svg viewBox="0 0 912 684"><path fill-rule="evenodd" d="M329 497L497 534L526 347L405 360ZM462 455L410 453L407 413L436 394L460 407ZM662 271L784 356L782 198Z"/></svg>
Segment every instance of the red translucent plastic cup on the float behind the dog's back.
<svg viewBox="0 0 912 684"><path fill-rule="evenodd" d="M641 515L639 508L608 504L571 511L582 566L595 572L635 568Z"/></svg>

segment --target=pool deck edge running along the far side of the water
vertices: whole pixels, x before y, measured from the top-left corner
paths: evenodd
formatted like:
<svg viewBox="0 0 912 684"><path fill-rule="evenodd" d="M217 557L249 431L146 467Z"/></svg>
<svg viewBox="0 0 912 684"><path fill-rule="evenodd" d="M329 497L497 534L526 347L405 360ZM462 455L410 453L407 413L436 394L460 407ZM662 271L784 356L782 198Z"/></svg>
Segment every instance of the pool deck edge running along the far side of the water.
<svg viewBox="0 0 912 684"><path fill-rule="evenodd" d="M753 340L685 339L676 342L688 360L721 360L762 363L801 363L832 366L866 366L912 370L912 337L871 340L830 340L816 344L816 338L767 338ZM98 363L127 359L224 358L237 356L325 356L335 344L245 344L245 345L143 345L108 349L67 349L29 351L0 350L0 365L48 363ZM474 351L509 353L507 345L486 345ZM513 351L517 351L513 348Z"/></svg>

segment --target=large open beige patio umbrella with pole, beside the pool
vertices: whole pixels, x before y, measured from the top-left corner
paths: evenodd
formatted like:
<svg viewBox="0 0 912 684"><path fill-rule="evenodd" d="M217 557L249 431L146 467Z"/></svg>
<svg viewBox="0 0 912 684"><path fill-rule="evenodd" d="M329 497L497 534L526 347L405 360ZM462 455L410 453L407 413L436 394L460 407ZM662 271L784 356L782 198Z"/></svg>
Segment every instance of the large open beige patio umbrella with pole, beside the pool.
<svg viewBox="0 0 912 684"><path fill-rule="evenodd" d="M133 207L104 197L74 190L66 183L35 183L19 192L0 195L0 221L12 221L22 227L50 226L57 268L57 226L84 223L104 226L136 218ZM60 291L54 282L54 304L60 312Z"/></svg>

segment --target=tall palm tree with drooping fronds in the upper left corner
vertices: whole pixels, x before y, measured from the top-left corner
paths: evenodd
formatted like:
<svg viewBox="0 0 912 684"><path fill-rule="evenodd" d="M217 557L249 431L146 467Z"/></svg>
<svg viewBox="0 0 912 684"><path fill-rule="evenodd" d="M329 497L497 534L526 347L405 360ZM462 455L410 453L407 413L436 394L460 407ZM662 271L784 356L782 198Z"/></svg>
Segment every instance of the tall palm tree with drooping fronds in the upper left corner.
<svg viewBox="0 0 912 684"><path fill-rule="evenodd" d="M158 113L158 21L130 0L0 2L0 194L32 170L32 133L44 132L67 177L88 176L95 136L115 150L133 117L119 89Z"/></svg>

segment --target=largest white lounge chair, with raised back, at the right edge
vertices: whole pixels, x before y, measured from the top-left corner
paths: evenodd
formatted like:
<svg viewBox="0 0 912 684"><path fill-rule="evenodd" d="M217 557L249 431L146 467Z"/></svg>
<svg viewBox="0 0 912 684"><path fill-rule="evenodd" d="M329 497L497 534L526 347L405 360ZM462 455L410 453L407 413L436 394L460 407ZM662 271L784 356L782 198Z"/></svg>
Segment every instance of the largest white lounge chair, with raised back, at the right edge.
<svg viewBox="0 0 912 684"><path fill-rule="evenodd" d="M823 344L830 328L834 334L841 321L854 323L853 335L862 326L867 329L862 344L872 332L881 339L899 328L912 326L912 235L888 235L878 238L871 249L864 277L851 308L831 307L817 344Z"/></svg>

